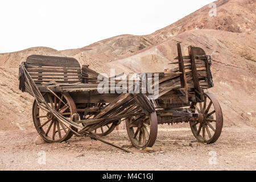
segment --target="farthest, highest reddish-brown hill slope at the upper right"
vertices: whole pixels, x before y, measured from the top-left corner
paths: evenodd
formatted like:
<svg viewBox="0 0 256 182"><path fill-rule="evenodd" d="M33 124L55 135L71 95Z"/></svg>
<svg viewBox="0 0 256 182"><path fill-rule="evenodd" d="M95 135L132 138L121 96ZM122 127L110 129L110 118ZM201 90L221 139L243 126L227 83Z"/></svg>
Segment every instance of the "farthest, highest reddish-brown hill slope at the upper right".
<svg viewBox="0 0 256 182"><path fill-rule="evenodd" d="M185 16L177 22L146 36L159 43L182 32L194 29L223 30L229 32L250 32L255 30L255 0L219 0L216 16L209 16L208 5Z"/></svg>

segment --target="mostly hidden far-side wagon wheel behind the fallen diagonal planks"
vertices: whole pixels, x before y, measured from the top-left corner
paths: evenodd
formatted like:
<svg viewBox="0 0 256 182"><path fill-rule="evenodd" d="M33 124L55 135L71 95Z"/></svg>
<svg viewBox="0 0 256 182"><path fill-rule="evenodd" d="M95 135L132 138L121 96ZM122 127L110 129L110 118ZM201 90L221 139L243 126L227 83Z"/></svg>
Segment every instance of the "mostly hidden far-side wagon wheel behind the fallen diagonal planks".
<svg viewBox="0 0 256 182"><path fill-rule="evenodd" d="M97 103L96 106L102 106L105 105L105 103ZM93 119L94 117L96 117L97 114L87 114L85 117L85 119ZM85 126L84 123L82 123L82 126ZM93 130L92 133L98 135L98 136L106 136L110 133L112 133L112 131L115 129L115 126L117 126L116 123L110 123L108 125L105 126L101 126L100 128Z"/></svg>

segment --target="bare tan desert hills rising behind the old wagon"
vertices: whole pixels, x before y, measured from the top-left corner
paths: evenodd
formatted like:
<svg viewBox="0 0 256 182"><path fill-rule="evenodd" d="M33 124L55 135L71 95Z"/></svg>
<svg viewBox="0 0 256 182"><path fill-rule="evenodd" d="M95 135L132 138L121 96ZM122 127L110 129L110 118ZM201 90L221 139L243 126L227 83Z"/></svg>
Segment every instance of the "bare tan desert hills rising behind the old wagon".
<svg viewBox="0 0 256 182"><path fill-rule="evenodd" d="M256 111L255 1L217 1L217 16L209 7L150 35L119 35L78 49L47 47L0 53L0 130L33 128L32 97L18 90L18 65L32 54L75 57L98 72L156 72L170 68L176 43L183 55L198 46L212 56L214 88L224 113L224 125L254 125Z"/></svg>

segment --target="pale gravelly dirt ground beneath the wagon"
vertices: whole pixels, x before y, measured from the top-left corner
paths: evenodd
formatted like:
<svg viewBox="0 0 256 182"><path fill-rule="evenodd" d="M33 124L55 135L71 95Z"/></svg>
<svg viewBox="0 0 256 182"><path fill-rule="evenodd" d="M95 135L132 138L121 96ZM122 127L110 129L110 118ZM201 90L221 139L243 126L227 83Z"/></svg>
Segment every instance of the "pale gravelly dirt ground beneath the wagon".
<svg viewBox="0 0 256 182"><path fill-rule="evenodd" d="M35 144L37 135L35 129L0 131L0 170L256 170L249 126L224 127L214 144L196 142L189 127L159 128L155 145L145 150L131 147L126 130L104 137L133 154L88 137Z"/></svg>

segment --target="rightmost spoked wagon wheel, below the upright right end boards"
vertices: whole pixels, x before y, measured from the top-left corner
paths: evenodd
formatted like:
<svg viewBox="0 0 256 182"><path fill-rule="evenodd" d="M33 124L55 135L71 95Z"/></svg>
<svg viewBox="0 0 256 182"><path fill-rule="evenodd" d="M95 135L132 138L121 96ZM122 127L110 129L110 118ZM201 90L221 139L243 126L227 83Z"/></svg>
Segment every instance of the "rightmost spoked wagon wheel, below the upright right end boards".
<svg viewBox="0 0 256 182"><path fill-rule="evenodd" d="M220 137L223 117L220 104L211 93L204 93L204 102L192 103L199 118L190 121L193 135L201 143L214 143Z"/></svg>

